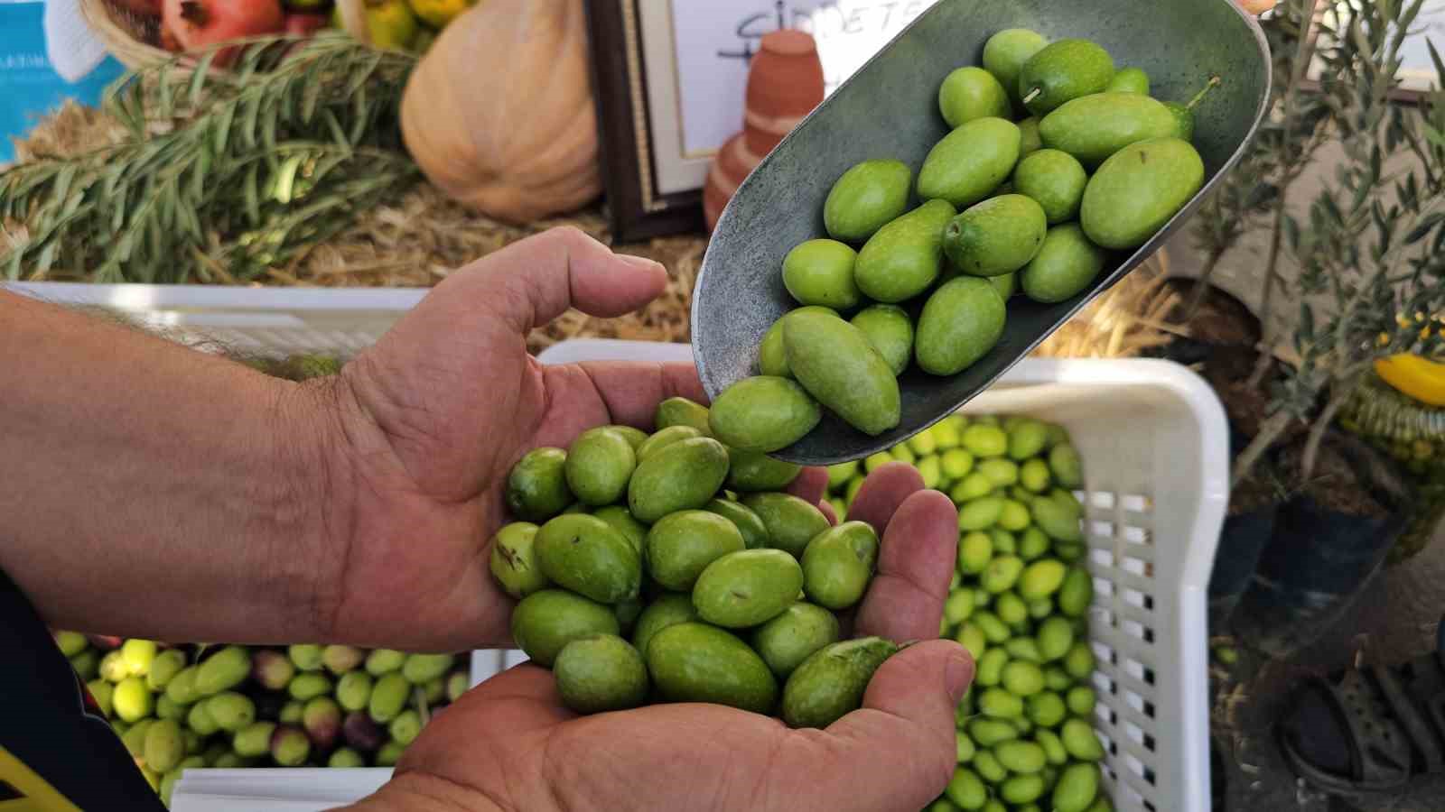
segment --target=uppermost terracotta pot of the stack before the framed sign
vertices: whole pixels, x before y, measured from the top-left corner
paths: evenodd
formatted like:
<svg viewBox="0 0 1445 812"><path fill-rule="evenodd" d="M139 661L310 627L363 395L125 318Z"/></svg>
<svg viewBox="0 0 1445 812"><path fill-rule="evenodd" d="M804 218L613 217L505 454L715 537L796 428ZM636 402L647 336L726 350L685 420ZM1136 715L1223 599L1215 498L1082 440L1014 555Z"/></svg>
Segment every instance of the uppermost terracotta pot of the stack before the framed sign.
<svg viewBox="0 0 1445 812"><path fill-rule="evenodd" d="M822 62L812 35L783 29L764 36L747 74L747 147L756 155L772 152L822 104Z"/></svg>

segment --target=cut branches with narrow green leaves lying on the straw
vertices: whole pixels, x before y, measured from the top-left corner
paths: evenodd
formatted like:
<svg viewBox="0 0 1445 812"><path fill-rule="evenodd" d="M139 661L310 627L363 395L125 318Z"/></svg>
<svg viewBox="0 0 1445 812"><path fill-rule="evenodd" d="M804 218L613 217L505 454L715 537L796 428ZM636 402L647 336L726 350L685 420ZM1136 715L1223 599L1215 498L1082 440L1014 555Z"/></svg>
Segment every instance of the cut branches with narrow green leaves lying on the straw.
<svg viewBox="0 0 1445 812"><path fill-rule="evenodd" d="M249 40L230 71L214 53L117 81L121 143L0 175L0 220L22 234L6 276L253 279L419 178L399 126L413 56L344 35Z"/></svg>

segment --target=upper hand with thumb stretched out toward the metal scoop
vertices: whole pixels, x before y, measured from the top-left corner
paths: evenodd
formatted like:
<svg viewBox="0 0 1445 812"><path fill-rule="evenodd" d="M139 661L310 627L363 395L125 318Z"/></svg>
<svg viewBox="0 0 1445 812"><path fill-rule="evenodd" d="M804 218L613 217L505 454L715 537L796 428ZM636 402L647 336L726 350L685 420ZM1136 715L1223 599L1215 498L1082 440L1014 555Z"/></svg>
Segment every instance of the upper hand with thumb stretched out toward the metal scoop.
<svg viewBox="0 0 1445 812"><path fill-rule="evenodd" d="M705 400L691 364L545 367L526 335L568 308L634 311L665 285L657 263L556 228L458 270L315 384L331 423L324 639L435 652L509 642L513 601L488 555L513 462L592 426L652 429L670 396Z"/></svg>

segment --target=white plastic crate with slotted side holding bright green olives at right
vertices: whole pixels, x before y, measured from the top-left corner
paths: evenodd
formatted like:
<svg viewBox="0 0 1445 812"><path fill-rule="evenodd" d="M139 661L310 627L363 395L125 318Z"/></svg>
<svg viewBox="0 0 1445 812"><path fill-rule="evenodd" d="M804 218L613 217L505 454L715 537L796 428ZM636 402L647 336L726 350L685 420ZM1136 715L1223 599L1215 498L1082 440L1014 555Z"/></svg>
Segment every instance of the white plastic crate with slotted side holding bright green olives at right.
<svg viewBox="0 0 1445 812"><path fill-rule="evenodd" d="M546 364L692 361L682 344L575 340ZM1202 379L1156 360L1027 358L964 413L1032 415L1084 459L1095 730L1120 812L1207 812L1205 589L1228 504L1224 409ZM509 652L506 665L520 662Z"/></svg>

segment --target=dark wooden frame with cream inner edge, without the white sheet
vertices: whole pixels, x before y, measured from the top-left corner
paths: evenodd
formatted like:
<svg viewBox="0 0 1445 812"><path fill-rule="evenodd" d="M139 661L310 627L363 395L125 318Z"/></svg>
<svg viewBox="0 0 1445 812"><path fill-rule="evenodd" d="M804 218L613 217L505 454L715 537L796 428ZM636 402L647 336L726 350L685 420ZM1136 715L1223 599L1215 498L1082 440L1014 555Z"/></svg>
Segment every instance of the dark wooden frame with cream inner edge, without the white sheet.
<svg viewBox="0 0 1445 812"><path fill-rule="evenodd" d="M603 182L613 237L620 243L704 230L701 188L657 189L637 3L587 0Z"/></svg>

